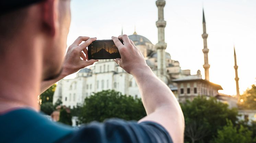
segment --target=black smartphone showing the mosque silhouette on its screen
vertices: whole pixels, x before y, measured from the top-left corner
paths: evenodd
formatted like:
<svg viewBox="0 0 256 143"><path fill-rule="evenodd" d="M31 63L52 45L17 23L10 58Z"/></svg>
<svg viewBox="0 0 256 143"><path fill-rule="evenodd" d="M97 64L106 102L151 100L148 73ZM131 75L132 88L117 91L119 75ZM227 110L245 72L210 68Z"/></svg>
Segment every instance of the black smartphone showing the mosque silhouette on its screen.
<svg viewBox="0 0 256 143"><path fill-rule="evenodd" d="M122 40L120 42L124 44ZM88 58L101 60L116 59L121 56L113 40L96 40L88 46Z"/></svg>

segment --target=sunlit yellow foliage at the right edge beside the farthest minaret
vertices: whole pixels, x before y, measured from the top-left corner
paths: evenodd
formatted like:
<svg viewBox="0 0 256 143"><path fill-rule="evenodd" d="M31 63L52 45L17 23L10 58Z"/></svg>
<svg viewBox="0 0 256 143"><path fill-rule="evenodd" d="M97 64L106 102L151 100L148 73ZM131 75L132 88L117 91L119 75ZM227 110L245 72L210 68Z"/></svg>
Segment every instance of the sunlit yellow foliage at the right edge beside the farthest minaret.
<svg viewBox="0 0 256 143"><path fill-rule="evenodd" d="M252 85L251 89L247 89L243 95L239 104L241 109L256 109L256 85Z"/></svg>

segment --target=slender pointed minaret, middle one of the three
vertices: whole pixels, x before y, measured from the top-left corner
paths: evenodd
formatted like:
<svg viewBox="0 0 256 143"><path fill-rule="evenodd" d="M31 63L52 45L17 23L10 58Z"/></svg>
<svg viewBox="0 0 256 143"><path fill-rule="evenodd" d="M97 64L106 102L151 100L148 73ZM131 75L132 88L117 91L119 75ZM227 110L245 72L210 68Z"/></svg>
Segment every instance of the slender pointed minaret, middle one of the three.
<svg viewBox="0 0 256 143"><path fill-rule="evenodd" d="M203 34L202 34L202 38L203 38L203 54L205 57L205 65L203 65L203 68L205 69L205 80L209 81L209 68L210 65L208 63L208 52L209 49L207 48L207 37L208 34L206 33L206 24L205 24L205 12L203 11Z"/></svg>

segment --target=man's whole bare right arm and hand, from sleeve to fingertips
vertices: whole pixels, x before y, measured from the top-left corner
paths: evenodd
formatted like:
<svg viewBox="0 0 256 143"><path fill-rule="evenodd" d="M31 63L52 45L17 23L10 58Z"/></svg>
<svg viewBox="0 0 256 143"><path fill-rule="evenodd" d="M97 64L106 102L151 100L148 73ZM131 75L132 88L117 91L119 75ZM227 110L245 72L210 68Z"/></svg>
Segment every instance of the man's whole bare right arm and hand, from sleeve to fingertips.
<svg viewBox="0 0 256 143"><path fill-rule="evenodd" d="M168 86L154 75L143 55L127 35L112 37L121 59L117 64L135 77L147 116L142 121L161 124L170 133L174 143L183 143L184 116L177 99ZM118 40L122 39L124 45Z"/></svg>

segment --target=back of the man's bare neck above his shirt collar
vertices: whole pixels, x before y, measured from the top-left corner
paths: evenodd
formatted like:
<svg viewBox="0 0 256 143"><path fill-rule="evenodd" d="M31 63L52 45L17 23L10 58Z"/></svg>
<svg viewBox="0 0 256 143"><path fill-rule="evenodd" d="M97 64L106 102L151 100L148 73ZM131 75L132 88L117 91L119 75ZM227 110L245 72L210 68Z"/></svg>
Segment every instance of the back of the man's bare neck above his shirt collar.
<svg viewBox="0 0 256 143"><path fill-rule="evenodd" d="M11 50L0 61L0 113L20 107L39 110L42 54L35 41L32 37L17 38L6 47Z"/></svg>

